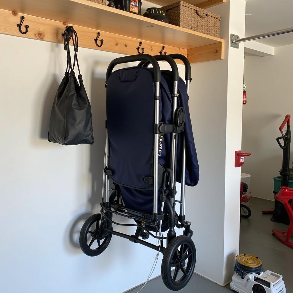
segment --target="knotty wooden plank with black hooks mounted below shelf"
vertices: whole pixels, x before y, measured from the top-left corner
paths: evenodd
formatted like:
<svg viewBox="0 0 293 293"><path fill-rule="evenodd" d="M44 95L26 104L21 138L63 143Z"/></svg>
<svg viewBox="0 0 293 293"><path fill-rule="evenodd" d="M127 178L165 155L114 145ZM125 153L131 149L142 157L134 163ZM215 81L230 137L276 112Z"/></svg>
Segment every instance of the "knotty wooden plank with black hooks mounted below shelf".
<svg viewBox="0 0 293 293"><path fill-rule="evenodd" d="M20 22L21 16L25 16L25 21L23 25L29 25L28 33L25 35L21 34L18 31L18 27L16 26L16 24ZM63 33L66 25L74 26L74 29L78 33L80 47L126 55L137 54L136 48L139 45L140 39L138 40L135 38L128 38L125 36L99 30L99 39L103 39L104 42L102 47L97 47L94 42L94 39L96 38L98 33L97 30L85 28L75 24L62 23L36 16L30 16L23 13L0 9L0 33L2 34L55 43L63 43L63 38L61 34ZM159 54L159 51L161 51L163 45L164 44L157 44L142 40L142 47L144 47L144 52L146 54ZM186 49L172 47L168 45L164 46L164 51L167 51L168 54L179 53L186 56Z"/></svg>

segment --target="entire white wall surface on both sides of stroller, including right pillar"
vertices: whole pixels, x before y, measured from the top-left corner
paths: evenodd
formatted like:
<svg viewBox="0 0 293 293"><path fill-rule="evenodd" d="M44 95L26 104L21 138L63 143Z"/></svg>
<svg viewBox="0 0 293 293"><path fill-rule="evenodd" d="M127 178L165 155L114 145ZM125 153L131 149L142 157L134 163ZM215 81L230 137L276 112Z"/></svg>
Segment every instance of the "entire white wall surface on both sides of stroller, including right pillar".
<svg viewBox="0 0 293 293"><path fill-rule="evenodd" d="M192 66L190 109L200 183L187 188L186 219L193 223L196 271L223 285L239 247L240 170L234 168L234 150L241 149L243 74L243 47L233 49L228 42L230 31L244 35L245 1L228 0L211 10L223 16L225 59ZM120 55L80 48L95 143L64 147L47 142L52 101L66 65L63 46L5 35L0 43L2 291L117 293L144 282L155 251L115 236L96 258L78 247L85 213L99 210L105 70ZM184 77L183 66L179 71ZM160 274L160 261L161 255L153 276ZM110 289L109 280L115 280Z"/></svg>

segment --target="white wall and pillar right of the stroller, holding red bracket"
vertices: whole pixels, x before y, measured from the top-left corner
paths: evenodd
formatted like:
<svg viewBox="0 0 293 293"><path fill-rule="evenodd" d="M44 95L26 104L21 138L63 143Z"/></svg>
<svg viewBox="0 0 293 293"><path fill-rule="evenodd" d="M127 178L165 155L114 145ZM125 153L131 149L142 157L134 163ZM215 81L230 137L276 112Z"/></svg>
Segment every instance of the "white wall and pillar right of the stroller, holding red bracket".
<svg viewBox="0 0 293 293"><path fill-rule="evenodd" d="M244 36L245 1L210 10L222 16L224 60L192 65L190 111L200 180L195 189L187 188L186 214L192 214L196 272L224 285L239 251L240 168L234 167L234 152L241 149L244 53L244 46L231 48L229 38L230 33Z"/></svg>

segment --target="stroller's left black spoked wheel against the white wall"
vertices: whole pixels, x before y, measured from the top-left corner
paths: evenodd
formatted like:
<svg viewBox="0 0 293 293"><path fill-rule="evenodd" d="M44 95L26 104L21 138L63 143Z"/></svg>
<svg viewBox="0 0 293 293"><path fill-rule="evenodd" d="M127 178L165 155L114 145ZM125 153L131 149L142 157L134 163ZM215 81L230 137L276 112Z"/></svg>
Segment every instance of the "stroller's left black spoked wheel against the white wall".
<svg viewBox="0 0 293 293"><path fill-rule="evenodd" d="M103 220L102 220L103 222ZM105 238L100 237L101 214L94 214L84 222L80 234L79 245L83 253L88 256L101 254L109 245L112 234Z"/></svg>

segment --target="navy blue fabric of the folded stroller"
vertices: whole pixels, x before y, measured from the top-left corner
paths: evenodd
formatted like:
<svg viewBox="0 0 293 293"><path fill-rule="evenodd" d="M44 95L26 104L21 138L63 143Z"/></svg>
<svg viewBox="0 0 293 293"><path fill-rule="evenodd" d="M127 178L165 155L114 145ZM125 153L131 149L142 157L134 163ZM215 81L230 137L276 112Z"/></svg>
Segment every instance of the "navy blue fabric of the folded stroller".
<svg viewBox="0 0 293 293"><path fill-rule="evenodd" d="M166 79L164 76L165 74L162 74L160 84L159 121L171 123L172 96L166 81L169 76L166 74ZM108 168L112 171L109 177L120 186L126 207L149 214L153 212L153 186L143 182L142 177L153 177L154 91L153 70L146 67L116 70L107 82ZM192 142L194 145L194 141L187 98L186 103L185 98L179 98L179 104L185 108L185 131L188 130L189 135L191 134L191 138L186 142L188 149L193 152L186 156L192 161L186 163L188 170L186 180L188 185L194 186L198 181L198 165L194 167L195 163L197 164L195 147L189 146ZM186 123L190 124L190 128ZM178 144L179 151L180 145L181 143ZM164 167L170 167L170 155L171 134L165 134L159 139L159 187L161 187ZM178 182L180 182L180 159L177 163ZM158 190L158 194L160 193L161 189ZM159 198L158 196L158 209L161 208ZM164 225L163 231L167 228L167 225Z"/></svg>

